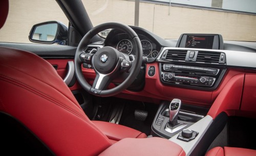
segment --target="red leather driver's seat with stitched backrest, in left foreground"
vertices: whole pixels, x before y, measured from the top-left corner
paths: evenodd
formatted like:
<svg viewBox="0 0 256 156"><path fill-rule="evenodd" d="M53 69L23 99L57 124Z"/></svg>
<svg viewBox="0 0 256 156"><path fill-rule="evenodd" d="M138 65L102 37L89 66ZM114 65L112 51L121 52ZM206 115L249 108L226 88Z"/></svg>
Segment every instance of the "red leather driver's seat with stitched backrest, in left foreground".
<svg viewBox="0 0 256 156"><path fill-rule="evenodd" d="M2 27L8 1L0 9ZM4 47L0 55L0 113L25 125L56 155L97 155L123 138L146 138L108 122L95 122L98 128L53 66L37 55Z"/></svg>

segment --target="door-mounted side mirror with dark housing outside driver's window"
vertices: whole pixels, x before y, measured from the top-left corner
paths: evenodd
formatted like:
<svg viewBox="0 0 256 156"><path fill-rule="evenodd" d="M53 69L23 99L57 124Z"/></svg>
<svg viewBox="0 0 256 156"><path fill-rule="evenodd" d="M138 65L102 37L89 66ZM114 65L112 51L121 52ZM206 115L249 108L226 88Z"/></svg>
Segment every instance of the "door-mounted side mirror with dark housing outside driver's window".
<svg viewBox="0 0 256 156"><path fill-rule="evenodd" d="M66 45L68 41L68 28L58 21L36 24L29 33L29 40L35 43Z"/></svg>

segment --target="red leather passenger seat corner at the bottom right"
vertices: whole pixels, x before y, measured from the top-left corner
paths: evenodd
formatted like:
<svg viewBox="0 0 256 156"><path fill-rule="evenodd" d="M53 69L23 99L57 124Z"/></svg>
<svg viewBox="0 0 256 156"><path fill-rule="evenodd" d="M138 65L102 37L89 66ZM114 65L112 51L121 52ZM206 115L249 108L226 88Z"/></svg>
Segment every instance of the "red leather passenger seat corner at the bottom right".
<svg viewBox="0 0 256 156"><path fill-rule="evenodd" d="M256 150L237 147L215 147L210 149L205 156L255 156Z"/></svg>

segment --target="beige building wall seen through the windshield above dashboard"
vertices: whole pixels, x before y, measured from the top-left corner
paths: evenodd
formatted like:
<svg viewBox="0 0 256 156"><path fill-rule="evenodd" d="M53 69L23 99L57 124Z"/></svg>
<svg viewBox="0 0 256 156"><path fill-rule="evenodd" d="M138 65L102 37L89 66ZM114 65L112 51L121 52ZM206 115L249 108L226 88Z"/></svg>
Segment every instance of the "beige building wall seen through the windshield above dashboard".
<svg viewBox="0 0 256 156"><path fill-rule="evenodd" d="M82 0L94 25L121 21L134 25L134 1ZM256 41L256 16L140 2L139 27L165 39L182 33L217 33L225 40Z"/></svg>

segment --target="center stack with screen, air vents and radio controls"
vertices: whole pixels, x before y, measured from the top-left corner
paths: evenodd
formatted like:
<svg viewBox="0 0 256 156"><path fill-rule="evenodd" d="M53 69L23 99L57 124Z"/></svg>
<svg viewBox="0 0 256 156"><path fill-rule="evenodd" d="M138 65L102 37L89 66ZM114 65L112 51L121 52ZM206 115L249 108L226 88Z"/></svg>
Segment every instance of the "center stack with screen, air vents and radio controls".
<svg viewBox="0 0 256 156"><path fill-rule="evenodd" d="M219 34L182 34L176 48L163 48L158 57L165 85L215 90L226 71L223 39Z"/></svg>

